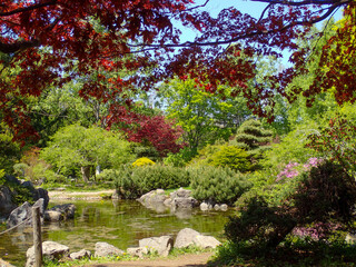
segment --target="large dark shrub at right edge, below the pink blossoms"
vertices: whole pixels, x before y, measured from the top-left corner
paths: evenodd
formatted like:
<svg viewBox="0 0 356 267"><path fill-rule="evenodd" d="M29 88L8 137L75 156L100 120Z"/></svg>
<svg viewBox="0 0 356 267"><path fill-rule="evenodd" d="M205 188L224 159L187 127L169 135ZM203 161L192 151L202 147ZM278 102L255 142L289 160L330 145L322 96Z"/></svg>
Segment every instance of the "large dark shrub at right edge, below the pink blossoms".
<svg viewBox="0 0 356 267"><path fill-rule="evenodd" d="M296 226L316 224L317 233L323 233L318 238L330 236L330 221L353 229L356 181L340 170L340 166L327 161L298 177L255 191L240 204L239 215L226 225L228 239L248 241L259 249L275 249Z"/></svg>

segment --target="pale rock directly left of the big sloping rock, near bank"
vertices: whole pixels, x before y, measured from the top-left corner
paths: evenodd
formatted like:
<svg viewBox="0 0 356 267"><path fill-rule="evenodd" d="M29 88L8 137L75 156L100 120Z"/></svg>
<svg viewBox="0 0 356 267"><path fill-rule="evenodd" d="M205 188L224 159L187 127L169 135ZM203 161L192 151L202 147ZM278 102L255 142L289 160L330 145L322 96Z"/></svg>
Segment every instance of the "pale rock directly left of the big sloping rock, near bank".
<svg viewBox="0 0 356 267"><path fill-rule="evenodd" d="M139 247L146 247L150 253L157 253L159 256L168 256L172 249L174 239L170 236L150 237L139 240Z"/></svg>

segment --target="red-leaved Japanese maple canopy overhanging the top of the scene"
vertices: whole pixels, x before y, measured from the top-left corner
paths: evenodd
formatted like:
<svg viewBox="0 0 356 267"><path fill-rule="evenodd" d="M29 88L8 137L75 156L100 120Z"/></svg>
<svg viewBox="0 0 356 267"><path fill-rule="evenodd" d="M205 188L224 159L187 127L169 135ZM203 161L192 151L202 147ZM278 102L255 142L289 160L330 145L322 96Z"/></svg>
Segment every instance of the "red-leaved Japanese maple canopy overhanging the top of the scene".
<svg viewBox="0 0 356 267"><path fill-rule="evenodd" d="M111 80L115 88L107 91L103 81L108 78L98 72L97 79L82 86L82 97L107 101L122 96L122 90L148 90L158 81L190 76L201 80L207 91L216 91L218 85L234 87L235 93L243 92L249 99L248 107L255 113L270 116L264 106L273 107L276 93L291 100L284 90L286 85L307 71L304 62L310 51L297 51L296 37L340 7L346 13L354 12L355 1L257 1L268 3L258 19L234 7L212 18L192 0L2 0L0 108L4 120L16 129L16 136L26 137L31 132L23 97L39 96L49 85L61 87L99 67L110 71L125 68L131 75ZM175 21L200 34L180 42ZM354 24L355 20L349 20L344 29L354 29ZM345 46L349 42L345 34L338 34L330 43L339 39ZM283 49L295 51L290 57L294 68L269 77L271 87L256 82L254 90L248 89L247 82L256 75L249 57L281 57ZM132 53L135 57L126 57ZM323 85L344 91L355 88L353 79L347 80L347 89L333 82ZM315 88L309 96L319 92ZM296 88L291 95L299 92Z"/></svg>

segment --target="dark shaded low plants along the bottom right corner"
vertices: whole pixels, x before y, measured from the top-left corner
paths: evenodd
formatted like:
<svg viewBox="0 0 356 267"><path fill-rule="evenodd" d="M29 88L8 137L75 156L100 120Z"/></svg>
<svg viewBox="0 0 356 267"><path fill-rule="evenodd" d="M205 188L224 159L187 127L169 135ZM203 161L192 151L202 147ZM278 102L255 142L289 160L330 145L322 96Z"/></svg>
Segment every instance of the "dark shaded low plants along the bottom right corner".
<svg viewBox="0 0 356 267"><path fill-rule="evenodd" d="M217 248L212 264L215 266L320 266L350 267L355 264L356 247L343 241L318 241L297 238L285 241L273 251L251 249L248 243L226 241Z"/></svg>

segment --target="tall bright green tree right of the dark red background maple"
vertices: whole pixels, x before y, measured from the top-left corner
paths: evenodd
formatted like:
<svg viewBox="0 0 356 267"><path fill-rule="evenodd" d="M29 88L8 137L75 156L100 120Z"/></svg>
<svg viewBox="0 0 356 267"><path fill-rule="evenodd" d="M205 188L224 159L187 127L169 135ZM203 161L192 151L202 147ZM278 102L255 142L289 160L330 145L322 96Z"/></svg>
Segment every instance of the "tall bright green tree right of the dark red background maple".
<svg viewBox="0 0 356 267"><path fill-rule="evenodd" d="M245 100L230 97L230 89L220 88L220 95L211 95L190 79L175 79L160 93L167 117L184 129L184 141L195 151L215 140L227 140L250 113Z"/></svg>

